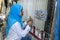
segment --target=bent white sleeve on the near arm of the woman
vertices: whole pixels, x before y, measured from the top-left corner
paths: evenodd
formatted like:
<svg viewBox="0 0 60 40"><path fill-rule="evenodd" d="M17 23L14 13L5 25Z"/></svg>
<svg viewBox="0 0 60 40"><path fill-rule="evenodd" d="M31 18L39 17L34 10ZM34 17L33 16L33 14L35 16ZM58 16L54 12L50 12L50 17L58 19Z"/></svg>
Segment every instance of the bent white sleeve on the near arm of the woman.
<svg viewBox="0 0 60 40"><path fill-rule="evenodd" d="M16 23L14 24L14 27L13 27L12 29L14 30L14 32L17 33L17 35L18 35L19 37L25 37L25 36L29 33L29 31L30 31L31 28L29 27L29 25L27 25L26 28L25 28L25 30L23 30L23 29L21 28L20 23L16 22Z"/></svg>

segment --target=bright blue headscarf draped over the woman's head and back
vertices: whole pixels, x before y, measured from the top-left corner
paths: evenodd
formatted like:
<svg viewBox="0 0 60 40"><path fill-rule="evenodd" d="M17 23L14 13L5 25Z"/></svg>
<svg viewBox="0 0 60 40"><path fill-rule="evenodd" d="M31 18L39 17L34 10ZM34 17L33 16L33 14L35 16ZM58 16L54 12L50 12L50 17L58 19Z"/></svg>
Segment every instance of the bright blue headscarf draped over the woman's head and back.
<svg viewBox="0 0 60 40"><path fill-rule="evenodd" d="M13 4L11 6L6 25L6 37L8 36L9 30L14 23L19 22L21 24L21 28L23 28L22 17L20 16L22 8L23 7L19 4Z"/></svg>

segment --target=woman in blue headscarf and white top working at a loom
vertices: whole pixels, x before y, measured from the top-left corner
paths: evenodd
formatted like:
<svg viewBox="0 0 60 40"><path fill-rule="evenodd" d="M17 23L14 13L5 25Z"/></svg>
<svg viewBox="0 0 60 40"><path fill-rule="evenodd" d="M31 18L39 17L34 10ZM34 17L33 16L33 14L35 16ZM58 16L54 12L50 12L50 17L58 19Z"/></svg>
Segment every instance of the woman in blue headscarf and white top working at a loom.
<svg viewBox="0 0 60 40"><path fill-rule="evenodd" d="M6 25L6 40L21 40L29 33L32 21L28 20L28 23L27 21L22 23L22 16L23 7L19 4L13 4ZM23 28L25 29L23 30Z"/></svg>

